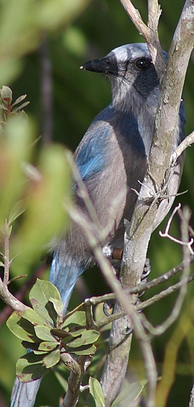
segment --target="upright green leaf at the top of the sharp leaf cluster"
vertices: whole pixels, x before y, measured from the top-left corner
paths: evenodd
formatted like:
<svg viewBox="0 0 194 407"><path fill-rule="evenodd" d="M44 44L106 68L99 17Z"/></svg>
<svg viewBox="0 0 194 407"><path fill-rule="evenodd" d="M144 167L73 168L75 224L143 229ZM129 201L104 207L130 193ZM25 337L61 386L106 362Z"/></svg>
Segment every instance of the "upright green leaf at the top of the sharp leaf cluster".
<svg viewBox="0 0 194 407"><path fill-rule="evenodd" d="M57 288L50 282L37 279L30 290L29 301L39 315L44 317L52 326L56 322L56 311L53 315L53 303L49 299L61 301Z"/></svg>

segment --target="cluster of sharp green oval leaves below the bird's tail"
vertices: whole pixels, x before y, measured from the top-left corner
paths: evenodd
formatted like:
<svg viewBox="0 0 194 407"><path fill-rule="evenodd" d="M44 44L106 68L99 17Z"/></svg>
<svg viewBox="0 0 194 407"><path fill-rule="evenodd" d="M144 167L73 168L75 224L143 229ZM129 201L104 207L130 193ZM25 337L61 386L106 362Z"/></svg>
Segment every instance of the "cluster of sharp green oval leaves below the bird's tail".
<svg viewBox="0 0 194 407"><path fill-rule="evenodd" d="M100 333L86 328L84 311L62 317L62 302L57 288L37 279L29 293L33 308L14 311L7 321L9 330L28 349L16 364L20 382L39 379L60 361L61 353L93 355Z"/></svg>

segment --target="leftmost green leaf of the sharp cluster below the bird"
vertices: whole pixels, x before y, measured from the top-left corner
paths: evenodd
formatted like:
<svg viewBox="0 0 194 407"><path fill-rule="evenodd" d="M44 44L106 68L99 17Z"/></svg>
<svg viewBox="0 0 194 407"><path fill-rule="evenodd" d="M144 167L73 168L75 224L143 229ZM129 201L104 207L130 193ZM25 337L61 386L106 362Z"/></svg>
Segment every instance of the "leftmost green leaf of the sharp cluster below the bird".
<svg viewBox="0 0 194 407"><path fill-rule="evenodd" d="M14 311L6 324L9 330L19 339L27 342L40 342L40 339L36 336L33 324L23 318L21 312Z"/></svg>

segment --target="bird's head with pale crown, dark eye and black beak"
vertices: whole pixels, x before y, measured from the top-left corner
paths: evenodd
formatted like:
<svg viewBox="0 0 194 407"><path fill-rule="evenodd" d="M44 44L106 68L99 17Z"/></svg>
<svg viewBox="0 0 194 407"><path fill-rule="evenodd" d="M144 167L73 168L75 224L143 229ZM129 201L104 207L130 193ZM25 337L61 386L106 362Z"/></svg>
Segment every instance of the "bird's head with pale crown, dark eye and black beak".
<svg viewBox="0 0 194 407"><path fill-rule="evenodd" d="M134 99L148 106L157 105L159 81L145 43L122 45L81 68L107 75L112 85L112 103L117 107L125 110Z"/></svg>

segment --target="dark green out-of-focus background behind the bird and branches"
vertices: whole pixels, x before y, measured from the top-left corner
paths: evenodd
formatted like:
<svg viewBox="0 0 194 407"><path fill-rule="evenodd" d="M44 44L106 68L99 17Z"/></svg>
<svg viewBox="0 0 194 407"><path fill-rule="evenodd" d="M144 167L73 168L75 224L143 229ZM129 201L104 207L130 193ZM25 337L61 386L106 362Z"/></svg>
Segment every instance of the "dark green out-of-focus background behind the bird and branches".
<svg viewBox="0 0 194 407"><path fill-rule="evenodd" d="M160 1L163 13L159 23L159 37L168 51L184 1ZM147 18L147 2L134 0L143 19ZM39 150L51 140L62 143L72 151L81 140L93 117L109 104L110 85L107 79L96 73L80 70L82 63L95 57L105 56L111 49L129 42L142 42L119 0L4 0L0 1L0 82L13 90L14 98L27 94L30 101L26 112L33 121L37 143L32 161L37 163ZM193 130L193 82L194 54L189 63L184 86L186 110L186 133ZM187 149L180 191L188 190L177 197L176 202L188 205L194 211L193 187L194 146ZM182 259L181 248L162 239L158 230L164 230L166 221L159 226L151 238L149 257L152 276L176 266ZM192 215L191 215L192 224ZM180 236L178 216L172 224L172 234ZM41 234L41 230L39 231ZM43 263L32 262L28 273L33 275ZM48 267L41 278L48 278ZM13 274L17 273L13 271ZM20 274L25 270L20 270ZM17 292L27 281L18 280L12 285ZM109 288L98 268L84 274L78 282L70 307L76 306L84 297L107 293ZM152 293L157 290L152 290ZM144 297L146 298L146 296ZM146 310L153 324L158 324L169 314L176 295L158 302ZM27 293L24 296L27 302ZM194 373L193 288L188 287L182 318L164 335L153 340L158 376L161 376L165 358L168 388L168 406L188 405L189 392ZM4 304L1 303L1 309ZM5 311L4 311L5 312ZM3 314L4 315L4 314ZM190 329L185 326L190 323ZM103 351L106 353L106 344ZM0 327L0 407L9 405L9 397L15 377L15 363L24 353L20 341L7 329L5 322ZM100 354L101 355L101 354ZM101 355L102 356L102 355ZM128 366L134 381L144 380L144 369L138 344L133 339L133 348ZM96 377L100 377L102 367ZM95 375L95 372L93 373ZM170 386L172 383L172 386ZM45 377L36 406L58 405L63 390L53 373ZM84 399L79 406L85 405ZM159 405L159 404L158 404Z"/></svg>

